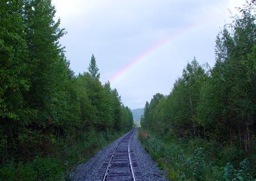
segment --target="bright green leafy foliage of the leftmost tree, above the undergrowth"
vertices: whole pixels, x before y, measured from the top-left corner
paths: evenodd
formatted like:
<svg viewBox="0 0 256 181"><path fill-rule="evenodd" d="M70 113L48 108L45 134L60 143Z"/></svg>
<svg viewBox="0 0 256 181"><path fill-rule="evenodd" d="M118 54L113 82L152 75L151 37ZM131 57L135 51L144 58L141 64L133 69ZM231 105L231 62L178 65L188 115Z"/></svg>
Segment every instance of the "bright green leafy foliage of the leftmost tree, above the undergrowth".
<svg viewBox="0 0 256 181"><path fill-rule="evenodd" d="M0 116L15 120L23 111L21 91L29 88L25 78L27 56L22 6L22 2L0 2Z"/></svg>

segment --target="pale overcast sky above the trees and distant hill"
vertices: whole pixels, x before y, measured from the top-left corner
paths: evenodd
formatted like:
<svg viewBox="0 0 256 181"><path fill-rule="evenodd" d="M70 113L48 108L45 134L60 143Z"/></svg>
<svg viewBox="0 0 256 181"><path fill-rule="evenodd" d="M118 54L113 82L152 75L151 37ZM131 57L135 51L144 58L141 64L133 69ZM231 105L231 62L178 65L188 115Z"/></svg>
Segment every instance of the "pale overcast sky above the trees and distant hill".
<svg viewBox="0 0 256 181"><path fill-rule="evenodd" d="M92 53L100 81L117 88L123 103L142 108L155 93L169 94L195 56L214 65L216 35L245 0L52 0L67 34L60 42L75 74ZM144 55L144 57L143 57ZM140 63L114 81L118 72ZM122 74L121 74L122 75Z"/></svg>

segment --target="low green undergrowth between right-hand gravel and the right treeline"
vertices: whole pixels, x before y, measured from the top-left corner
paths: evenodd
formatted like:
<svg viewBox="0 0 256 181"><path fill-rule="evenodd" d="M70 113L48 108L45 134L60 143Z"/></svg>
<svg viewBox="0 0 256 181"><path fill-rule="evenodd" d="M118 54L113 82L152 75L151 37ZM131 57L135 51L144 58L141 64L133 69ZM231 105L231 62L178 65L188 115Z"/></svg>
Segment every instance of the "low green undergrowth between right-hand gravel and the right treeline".
<svg viewBox="0 0 256 181"><path fill-rule="evenodd" d="M140 131L144 149L171 181L256 181L253 152L206 139L172 139Z"/></svg>

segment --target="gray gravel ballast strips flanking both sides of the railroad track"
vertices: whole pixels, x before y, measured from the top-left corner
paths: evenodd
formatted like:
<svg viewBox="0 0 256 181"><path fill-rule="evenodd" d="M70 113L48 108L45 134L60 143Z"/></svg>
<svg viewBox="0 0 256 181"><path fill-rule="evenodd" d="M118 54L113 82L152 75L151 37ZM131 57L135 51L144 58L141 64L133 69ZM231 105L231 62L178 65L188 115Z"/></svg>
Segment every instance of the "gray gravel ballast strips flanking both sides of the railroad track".
<svg viewBox="0 0 256 181"><path fill-rule="evenodd" d="M99 151L88 162L77 166L73 171L71 171L69 176L70 180L97 181L98 172L100 168L102 168L104 161L106 161L108 155L114 151L115 147L123 138L123 136L116 139L110 145ZM144 151L140 141L137 139L137 131L131 140L131 147L133 147L135 159L137 160L137 164L145 181L168 181L165 178L165 172L163 170L159 170L159 168L156 167L156 162L154 162L152 158L146 153L146 151ZM161 172L163 175L159 174Z"/></svg>

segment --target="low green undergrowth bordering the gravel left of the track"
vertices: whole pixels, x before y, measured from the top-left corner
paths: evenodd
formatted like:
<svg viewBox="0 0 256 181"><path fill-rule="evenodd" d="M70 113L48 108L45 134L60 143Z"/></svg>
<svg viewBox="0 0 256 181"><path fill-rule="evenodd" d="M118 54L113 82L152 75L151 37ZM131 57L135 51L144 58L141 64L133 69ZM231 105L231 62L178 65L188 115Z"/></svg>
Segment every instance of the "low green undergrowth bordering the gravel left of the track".
<svg viewBox="0 0 256 181"><path fill-rule="evenodd" d="M56 141L54 153L43 156L40 153L30 162L8 159L0 167L0 181L64 181L78 164L86 162L108 143L123 133L96 132L94 129L81 135L79 140Z"/></svg>

